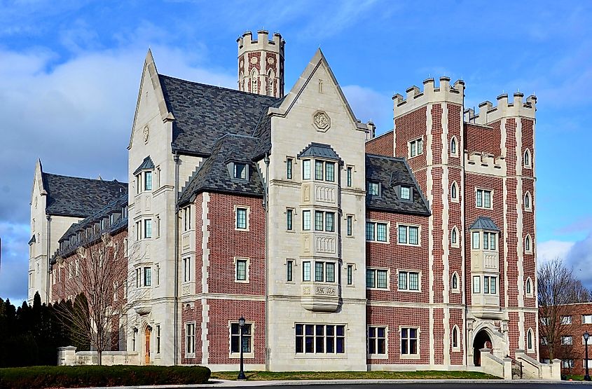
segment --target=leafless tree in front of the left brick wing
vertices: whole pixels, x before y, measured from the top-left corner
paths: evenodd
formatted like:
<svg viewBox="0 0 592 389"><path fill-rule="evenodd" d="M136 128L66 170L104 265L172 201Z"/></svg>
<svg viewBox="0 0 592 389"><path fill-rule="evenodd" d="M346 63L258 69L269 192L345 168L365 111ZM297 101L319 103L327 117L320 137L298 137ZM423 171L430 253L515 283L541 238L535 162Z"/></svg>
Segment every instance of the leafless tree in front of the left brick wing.
<svg viewBox="0 0 592 389"><path fill-rule="evenodd" d="M60 310L62 323L78 343L102 353L111 347L113 317L121 317L127 286L128 261L123 241L108 233L78 247L68 258L64 296L76 296L70 309ZM65 304L62 304L64 307Z"/></svg>

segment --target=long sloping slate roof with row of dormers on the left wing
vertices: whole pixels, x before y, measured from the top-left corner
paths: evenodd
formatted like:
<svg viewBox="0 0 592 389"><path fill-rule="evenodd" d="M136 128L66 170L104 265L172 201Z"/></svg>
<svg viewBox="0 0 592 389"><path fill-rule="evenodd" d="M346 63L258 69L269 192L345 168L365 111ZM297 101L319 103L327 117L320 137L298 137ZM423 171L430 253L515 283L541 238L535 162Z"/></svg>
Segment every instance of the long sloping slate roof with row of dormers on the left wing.
<svg viewBox="0 0 592 389"><path fill-rule="evenodd" d="M64 250L61 250L58 246L58 249L56 250L52 258L52 263L55 262L57 255L59 255L60 257L67 257L70 254L74 253L76 249L80 247L81 244L92 243L95 240L98 240L103 233L114 234L118 231L121 231L122 229L128 228L128 217L121 217L121 209L127 206L128 193L125 192L123 196L120 196L116 200L111 201L111 203L105 205L94 214L91 214L89 217L81 221L78 221L78 223L72 224L64 233L64 235L62 235L62 237L59 240L57 240L58 243L61 243L64 240L69 241L71 236L75 236L78 232L83 233L85 228L93 226L95 223L100 222L101 219L109 217L110 214L118 213L118 218L113 221L113 224L107 225L103 230L90 236L90 238L83 238L81 242L78 242L72 246L68 246Z"/></svg>

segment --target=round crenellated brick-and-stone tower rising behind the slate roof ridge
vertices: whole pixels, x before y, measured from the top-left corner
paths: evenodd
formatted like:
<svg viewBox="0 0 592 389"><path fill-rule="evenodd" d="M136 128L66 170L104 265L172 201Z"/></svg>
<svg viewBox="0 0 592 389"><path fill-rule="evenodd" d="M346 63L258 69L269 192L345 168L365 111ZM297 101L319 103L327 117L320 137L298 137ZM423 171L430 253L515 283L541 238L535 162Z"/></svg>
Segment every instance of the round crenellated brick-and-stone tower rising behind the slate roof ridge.
<svg viewBox="0 0 592 389"><path fill-rule="evenodd" d="M284 96L284 44L282 35L259 30L256 41L245 32L238 42L238 90L275 97Z"/></svg>

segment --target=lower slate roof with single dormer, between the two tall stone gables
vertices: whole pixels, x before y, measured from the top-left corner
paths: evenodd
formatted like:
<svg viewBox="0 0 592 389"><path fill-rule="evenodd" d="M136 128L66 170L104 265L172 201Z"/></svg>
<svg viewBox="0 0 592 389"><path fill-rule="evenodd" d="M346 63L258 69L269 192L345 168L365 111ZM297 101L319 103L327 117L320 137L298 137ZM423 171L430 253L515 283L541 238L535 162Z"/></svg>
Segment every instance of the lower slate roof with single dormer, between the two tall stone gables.
<svg viewBox="0 0 592 389"><path fill-rule="evenodd" d="M257 142L258 139L254 137L230 134L216 139L212 154L202 162L181 191L179 205L191 202L195 194L202 191L263 197L263 183L256 164L250 158ZM230 161L246 163L249 166L249 179L234 179L230 176L227 168Z"/></svg>

